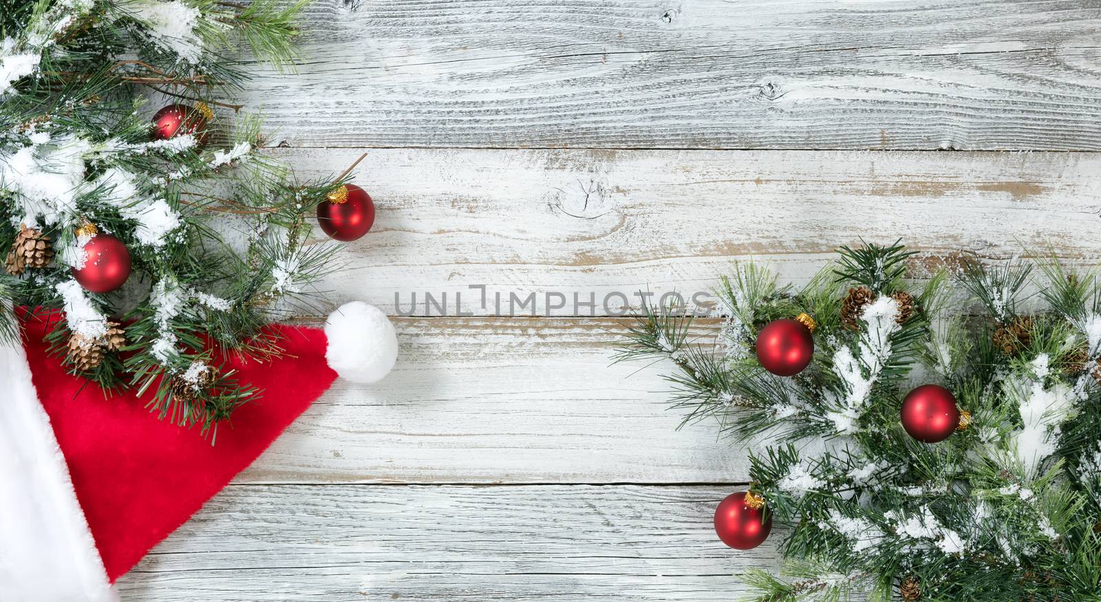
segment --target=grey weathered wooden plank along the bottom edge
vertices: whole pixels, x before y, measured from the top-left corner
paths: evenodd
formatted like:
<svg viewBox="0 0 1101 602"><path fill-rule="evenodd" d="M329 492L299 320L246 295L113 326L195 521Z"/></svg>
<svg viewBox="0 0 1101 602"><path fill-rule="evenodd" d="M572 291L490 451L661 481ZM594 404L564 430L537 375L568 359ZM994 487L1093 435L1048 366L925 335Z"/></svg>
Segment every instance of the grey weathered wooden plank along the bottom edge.
<svg viewBox="0 0 1101 602"><path fill-rule="evenodd" d="M119 581L124 600L716 600L775 568L722 546L735 486L230 486Z"/></svg>

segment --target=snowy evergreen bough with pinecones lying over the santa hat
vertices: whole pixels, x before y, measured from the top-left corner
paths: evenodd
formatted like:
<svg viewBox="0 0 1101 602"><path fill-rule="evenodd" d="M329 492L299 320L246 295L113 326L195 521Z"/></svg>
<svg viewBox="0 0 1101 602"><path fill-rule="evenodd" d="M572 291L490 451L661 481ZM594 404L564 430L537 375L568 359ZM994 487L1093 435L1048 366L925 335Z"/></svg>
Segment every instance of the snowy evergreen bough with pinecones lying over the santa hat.
<svg viewBox="0 0 1101 602"><path fill-rule="evenodd" d="M15 0L0 13L0 340L18 310L54 310L58 361L106 391L204 433L259 391L227 354L270 358L264 326L313 310L334 248L307 240L340 178L299 183L260 151L231 99L244 61L293 64L305 2ZM151 116L179 103L203 127L167 139ZM161 136L164 138L164 136ZM74 280L97 233L132 272L118 291ZM12 252L9 253L9 250Z"/></svg>

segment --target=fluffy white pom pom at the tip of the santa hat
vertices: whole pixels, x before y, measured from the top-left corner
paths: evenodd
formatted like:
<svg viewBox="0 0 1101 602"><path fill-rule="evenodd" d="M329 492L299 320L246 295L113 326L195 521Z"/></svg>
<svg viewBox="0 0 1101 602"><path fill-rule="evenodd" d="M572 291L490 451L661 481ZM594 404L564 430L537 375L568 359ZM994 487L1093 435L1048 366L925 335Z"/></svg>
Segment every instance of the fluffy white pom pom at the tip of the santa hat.
<svg viewBox="0 0 1101 602"><path fill-rule="evenodd" d="M397 361L397 335L381 309L363 302L341 305L325 321L325 360L353 383L377 383Z"/></svg>

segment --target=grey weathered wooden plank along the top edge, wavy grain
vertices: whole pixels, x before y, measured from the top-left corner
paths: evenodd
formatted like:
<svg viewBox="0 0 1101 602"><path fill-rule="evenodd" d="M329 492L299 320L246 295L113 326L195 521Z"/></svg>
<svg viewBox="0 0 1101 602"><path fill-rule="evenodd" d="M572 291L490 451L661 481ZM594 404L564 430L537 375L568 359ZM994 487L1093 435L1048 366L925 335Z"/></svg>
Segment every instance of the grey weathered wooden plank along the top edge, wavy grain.
<svg viewBox="0 0 1101 602"><path fill-rule="evenodd" d="M244 101L294 146L1098 150L1097 8L323 0Z"/></svg>

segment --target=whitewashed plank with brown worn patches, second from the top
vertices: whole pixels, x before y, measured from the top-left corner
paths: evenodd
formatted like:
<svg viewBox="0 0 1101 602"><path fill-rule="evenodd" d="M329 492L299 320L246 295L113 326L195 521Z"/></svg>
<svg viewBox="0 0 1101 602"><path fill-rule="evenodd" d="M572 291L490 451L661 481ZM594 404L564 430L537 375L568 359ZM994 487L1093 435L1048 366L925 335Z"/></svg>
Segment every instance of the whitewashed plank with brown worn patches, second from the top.
<svg viewBox="0 0 1101 602"><path fill-rule="evenodd" d="M360 151L277 154L316 176ZM450 315L560 304L549 313L588 316L619 313L617 293L709 291L732 260L804 282L861 238L933 256L1050 243L1095 264L1098 173L1090 153L374 150L355 175L375 199L374 229L321 288L391 314L395 295L407 311L416 293L415 315L439 315L430 292L447 294ZM484 306L471 285L487 286ZM532 293L537 306L523 306Z"/></svg>

